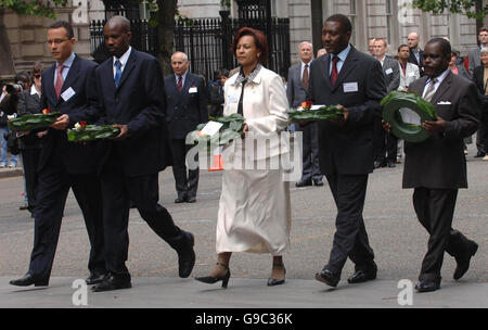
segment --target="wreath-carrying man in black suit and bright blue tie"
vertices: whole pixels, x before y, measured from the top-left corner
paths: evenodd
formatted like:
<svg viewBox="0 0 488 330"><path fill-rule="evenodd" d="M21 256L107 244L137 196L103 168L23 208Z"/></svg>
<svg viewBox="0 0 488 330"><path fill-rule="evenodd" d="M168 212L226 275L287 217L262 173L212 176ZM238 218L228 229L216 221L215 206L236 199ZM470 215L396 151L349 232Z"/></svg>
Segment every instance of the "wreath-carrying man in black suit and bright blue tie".
<svg viewBox="0 0 488 330"><path fill-rule="evenodd" d="M131 288L126 267L130 201L151 229L178 252L180 277L190 276L195 263L193 234L175 226L158 204L158 173L170 164L159 63L130 47L130 22L125 17L108 20L104 36L113 56L95 71L99 116L120 132L107 141L101 166L108 276L93 287L95 292Z"/></svg>

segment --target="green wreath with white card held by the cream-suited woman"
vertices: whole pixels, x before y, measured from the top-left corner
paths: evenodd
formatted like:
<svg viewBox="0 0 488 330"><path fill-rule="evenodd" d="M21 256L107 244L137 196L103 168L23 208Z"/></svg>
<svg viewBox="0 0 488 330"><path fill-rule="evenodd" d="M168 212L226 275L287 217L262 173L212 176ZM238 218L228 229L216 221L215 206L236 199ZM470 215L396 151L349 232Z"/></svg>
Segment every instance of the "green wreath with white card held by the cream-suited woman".
<svg viewBox="0 0 488 330"><path fill-rule="evenodd" d="M217 134L211 136L205 134L204 127L207 124L200 124L196 130L190 132L193 143L206 145L208 151L211 148L220 147L230 143L232 140L240 139L244 129L244 117L240 114L231 114L222 117L210 117L210 122L221 124Z"/></svg>

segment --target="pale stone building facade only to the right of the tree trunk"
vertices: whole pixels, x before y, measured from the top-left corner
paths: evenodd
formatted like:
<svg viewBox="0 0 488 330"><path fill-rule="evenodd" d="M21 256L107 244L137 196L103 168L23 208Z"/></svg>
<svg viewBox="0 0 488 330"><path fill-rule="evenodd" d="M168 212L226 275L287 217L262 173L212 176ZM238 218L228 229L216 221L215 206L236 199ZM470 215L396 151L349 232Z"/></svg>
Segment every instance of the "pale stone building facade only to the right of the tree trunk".
<svg viewBox="0 0 488 330"><path fill-rule="evenodd" d="M486 2L486 1L485 1ZM421 46L433 37L447 37L452 47L467 54L476 46L476 22L463 15L433 15L410 9L411 0L271 0L272 14L290 18L292 63L298 62L299 43L309 40L317 52L322 46L323 22L332 14L347 15L354 24L351 42L367 51L368 40L385 38L388 53L396 54L407 36L416 31ZM180 13L190 18L218 17L220 0L179 0ZM231 2L231 14L235 15L235 2ZM487 20L486 20L487 21Z"/></svg>

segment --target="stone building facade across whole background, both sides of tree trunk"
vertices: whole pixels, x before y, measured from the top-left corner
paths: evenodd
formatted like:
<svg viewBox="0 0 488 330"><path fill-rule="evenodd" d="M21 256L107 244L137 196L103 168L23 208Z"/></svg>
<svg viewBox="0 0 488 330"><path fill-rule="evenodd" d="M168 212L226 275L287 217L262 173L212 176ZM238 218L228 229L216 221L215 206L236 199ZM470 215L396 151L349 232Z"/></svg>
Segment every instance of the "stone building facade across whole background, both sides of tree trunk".
<svg viewBox="0 0 488 330"><path fill-rule="evenodd" d="M220 0L179 0L180 14L189 18L219 17L222 10ZM447 37L454 49L466 54L476 46L476 24L463 15L432 15L403 7L411 0L271 0L272 15L290 18L290 39L292 63L298 62L298 46L304 40L321 48L323 21L334 14L343 13L354 23L351 42L365 51L368 40L373 37L388 40L388 52L396 53L399 45L406 43L410 31L418 31L421 46L432 37ZM485 0L484 2L488 2ZM231 16L236 16L235 1L231 1ZM67 20L74 24L78 43L75 51L90 56L89 22L104 18L101 0L69 1L69 5L57 9L56 20ZM487 21L487 20L485 20ZM488 22L488 21L487 21ZM52 20L21 16L10 11L3 12L13 71L30 68L35 61L52 63L44 45L46 31Z"/></svg>

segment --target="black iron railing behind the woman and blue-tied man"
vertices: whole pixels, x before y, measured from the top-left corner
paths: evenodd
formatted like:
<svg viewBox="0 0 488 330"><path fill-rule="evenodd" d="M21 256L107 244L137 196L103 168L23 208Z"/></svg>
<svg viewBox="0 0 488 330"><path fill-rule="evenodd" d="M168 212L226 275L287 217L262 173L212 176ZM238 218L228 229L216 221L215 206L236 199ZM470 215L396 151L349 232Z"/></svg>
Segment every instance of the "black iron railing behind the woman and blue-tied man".
<svg viewBox="0 0 488 330"><path fill-rule="evenodd" d="M190 59L190 71L213 79L219 68L232 69L237 63L231 53L231 43L239 28L248 26L258 28L268 38L270 55L268 67L282 76L287 75L291 65L290 20L272 17L270 22L255 17L229 18L223 12L222 18L191 20L175 23L175 51L182 51ZM103 40L104 21L90 24L91 51L97 62L110 56ZM157 29L146 21L131 20L132 47L157 55Z"/></svg>

